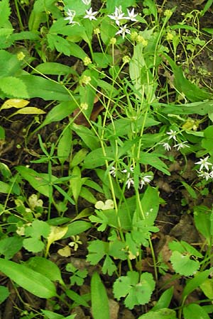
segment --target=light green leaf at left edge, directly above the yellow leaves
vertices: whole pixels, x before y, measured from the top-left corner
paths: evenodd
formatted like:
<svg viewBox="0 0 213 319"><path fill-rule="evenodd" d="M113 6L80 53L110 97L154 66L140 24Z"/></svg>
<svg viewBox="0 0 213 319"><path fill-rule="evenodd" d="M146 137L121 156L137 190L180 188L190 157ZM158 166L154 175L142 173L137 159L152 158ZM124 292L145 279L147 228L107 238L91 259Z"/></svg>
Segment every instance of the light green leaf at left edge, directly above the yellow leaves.
<svg viewBox="0 0 213 319"><path fill-rule="evenodd" d="M17 77L4 77L0 82L0 89L7 97L16 97L19 99L29 99L28 88L22 79Z"/></svg>

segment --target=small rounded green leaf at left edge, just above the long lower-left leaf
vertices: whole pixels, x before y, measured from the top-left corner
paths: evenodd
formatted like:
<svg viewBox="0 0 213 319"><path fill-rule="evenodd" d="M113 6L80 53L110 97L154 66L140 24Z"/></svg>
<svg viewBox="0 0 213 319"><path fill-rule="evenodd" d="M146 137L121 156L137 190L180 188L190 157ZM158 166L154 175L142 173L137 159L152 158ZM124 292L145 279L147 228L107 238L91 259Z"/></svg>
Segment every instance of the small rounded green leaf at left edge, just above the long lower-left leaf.
<svg viewBox="0 0 213 319"><path fill-rule="evenodd" d="M0 240L0 254L6 259L13 258L14 254L21 250L23 239L21 237L7 237Z"/></svg>

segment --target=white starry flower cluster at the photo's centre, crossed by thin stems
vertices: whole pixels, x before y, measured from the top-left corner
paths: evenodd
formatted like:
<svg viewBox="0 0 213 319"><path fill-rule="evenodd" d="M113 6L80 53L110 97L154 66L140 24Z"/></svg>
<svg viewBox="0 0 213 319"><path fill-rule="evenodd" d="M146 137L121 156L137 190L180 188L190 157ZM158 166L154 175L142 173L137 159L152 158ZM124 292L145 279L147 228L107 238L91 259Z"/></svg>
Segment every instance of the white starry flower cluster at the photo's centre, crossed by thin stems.
<svg viewBox="0 0 213 319"><path fill-rule="evenodd" d="M133 179L133 166L129 167L129 171L127 169L123 169L121 173L126 173L126 186L127 189L130 189L131 186L134 185L134 179ZM109 170L109 174L111 174L113 177L116 177L116 168L114 166L111 167ZM152 175L148 175L147 173L141 173L141 178L139 181L139 188L142 189L144 185L149 184L151 180L153 179Z"/></svg>

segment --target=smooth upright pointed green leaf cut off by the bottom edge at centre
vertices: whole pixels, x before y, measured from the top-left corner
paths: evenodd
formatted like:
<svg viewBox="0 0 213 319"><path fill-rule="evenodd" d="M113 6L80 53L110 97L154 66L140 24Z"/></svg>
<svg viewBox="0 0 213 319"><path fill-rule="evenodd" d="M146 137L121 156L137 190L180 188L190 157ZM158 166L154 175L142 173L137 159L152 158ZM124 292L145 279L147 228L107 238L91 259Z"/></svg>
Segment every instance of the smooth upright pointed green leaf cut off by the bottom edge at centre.
<svg viewBox="0 0 213 319"><path fill-rule="evenodd" d="M99 319L100 313L102 314L102 319L110 318L107 291L97 272L92 275L91 279L91 302L94 319Z"/></svg>

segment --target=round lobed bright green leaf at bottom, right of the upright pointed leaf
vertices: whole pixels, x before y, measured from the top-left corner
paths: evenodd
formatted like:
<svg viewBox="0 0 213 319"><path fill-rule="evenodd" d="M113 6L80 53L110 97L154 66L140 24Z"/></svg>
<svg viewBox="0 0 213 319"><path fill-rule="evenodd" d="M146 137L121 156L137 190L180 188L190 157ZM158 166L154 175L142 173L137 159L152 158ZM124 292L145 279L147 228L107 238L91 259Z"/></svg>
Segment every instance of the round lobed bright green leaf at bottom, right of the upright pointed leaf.
<svg viewBox="0 0 213 319"><path fill-rule="evenodd" d="M127 276L116 279L113 286L115 298L126 297L124 303L129 309L148 303L154 289L153 275L148 272L141 274L140 278L137 272L127 272Z"/></svg>

